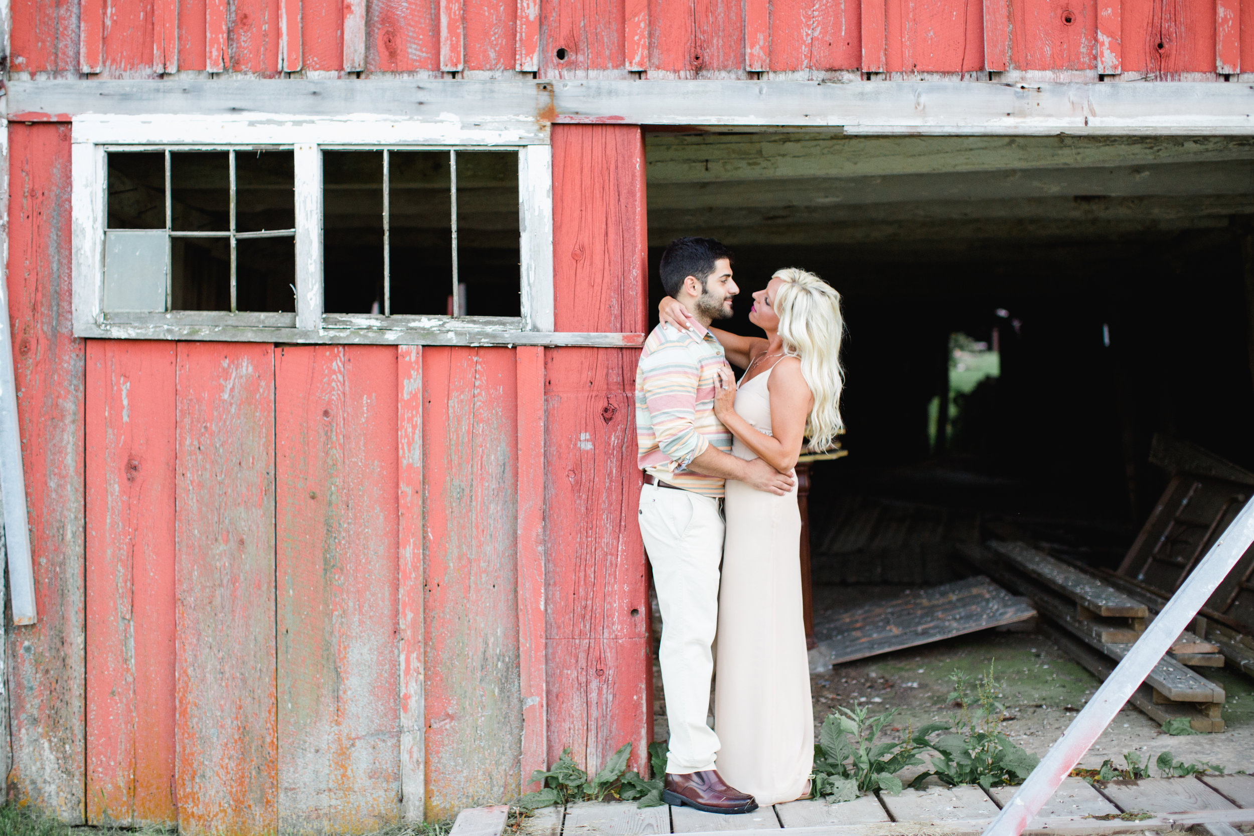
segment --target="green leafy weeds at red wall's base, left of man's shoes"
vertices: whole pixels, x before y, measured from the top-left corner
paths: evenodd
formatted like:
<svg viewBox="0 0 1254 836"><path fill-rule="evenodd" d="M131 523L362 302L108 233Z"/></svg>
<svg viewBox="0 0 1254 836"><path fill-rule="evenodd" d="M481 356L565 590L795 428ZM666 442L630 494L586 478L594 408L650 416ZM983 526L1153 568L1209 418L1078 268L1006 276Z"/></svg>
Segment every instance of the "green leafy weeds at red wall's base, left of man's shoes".
<svg viewBox="0 0 1254 836"><path fill-rule="evenodd" d="M562 750L562 757L557 763L548 770L535 770L532 773L530 782L539 781L544 785L543 788L528 792L518 800L517 806L532 811L574 801L602 801L613 797L637 801L637 807L657 807L662 803L666 743L650 743L648 755L656 776L652 780L642 778L635 770L627 770L631 743L623 743L622 748L609 756L609 761L599 772L588 777L588 773L571 757L571 750Z"/></svg>

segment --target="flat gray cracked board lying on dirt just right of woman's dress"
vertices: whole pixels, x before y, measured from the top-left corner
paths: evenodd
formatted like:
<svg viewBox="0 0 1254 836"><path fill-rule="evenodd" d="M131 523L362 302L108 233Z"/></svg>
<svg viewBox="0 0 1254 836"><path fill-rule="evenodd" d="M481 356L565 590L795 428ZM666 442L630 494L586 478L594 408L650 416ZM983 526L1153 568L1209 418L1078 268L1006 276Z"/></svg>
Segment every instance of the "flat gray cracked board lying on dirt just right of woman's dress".
<svg viewBox="0 0 1254 836"><path fill-rule="evenodd" d="M1027 600L984 577L912 592L845 613L835 635L810 651L810 672L1033 617Z"/></svg>

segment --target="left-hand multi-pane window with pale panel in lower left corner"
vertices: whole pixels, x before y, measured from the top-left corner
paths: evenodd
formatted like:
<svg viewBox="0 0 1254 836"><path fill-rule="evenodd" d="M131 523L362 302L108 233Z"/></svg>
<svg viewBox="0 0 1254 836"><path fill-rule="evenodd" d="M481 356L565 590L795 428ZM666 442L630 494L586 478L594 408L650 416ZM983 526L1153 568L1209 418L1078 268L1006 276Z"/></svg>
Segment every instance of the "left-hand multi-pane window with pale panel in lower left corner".
<svg viewBox="0 0 1254 836"><path fill-rule="evenodd" d="M292 152L108 152L105 311L295 312Z"/></svg>

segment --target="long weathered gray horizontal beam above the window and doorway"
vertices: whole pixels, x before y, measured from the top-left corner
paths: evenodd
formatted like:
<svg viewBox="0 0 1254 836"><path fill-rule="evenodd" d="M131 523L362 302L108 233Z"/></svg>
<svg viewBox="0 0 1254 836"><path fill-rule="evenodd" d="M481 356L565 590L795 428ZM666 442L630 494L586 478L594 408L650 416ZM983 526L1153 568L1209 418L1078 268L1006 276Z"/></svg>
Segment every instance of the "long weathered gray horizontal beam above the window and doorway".
<svg viewBox="0 0 1254 836"><path fill-rule="evenodd" d="M464 128L551 123L840 127L848 133L1251 134L1254 86L1146 81L48 80L10 119L78 114L384 115ZM286 115L285 115L286 114Z"/></svg>

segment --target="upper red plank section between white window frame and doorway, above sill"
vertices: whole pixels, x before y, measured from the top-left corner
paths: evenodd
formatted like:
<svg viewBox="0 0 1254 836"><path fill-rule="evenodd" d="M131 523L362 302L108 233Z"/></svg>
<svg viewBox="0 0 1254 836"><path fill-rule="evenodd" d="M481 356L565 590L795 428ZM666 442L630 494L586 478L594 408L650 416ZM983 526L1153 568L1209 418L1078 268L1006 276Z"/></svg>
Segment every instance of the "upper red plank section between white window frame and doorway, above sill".
<svg viewBox="0 0 1254 836"><path fill-rule="evenodd" d="M554 125L557 331L645 330L647 229L640 128Z"/></svg>

